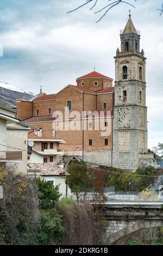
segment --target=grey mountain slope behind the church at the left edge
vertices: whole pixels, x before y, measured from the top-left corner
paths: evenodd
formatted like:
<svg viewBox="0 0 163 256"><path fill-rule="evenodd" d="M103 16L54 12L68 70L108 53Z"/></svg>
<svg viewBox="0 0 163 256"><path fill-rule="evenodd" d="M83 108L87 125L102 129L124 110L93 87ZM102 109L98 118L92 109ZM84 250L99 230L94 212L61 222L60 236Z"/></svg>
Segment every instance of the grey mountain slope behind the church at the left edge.
<svg viewBox="0 0 163 256"><path fill-rule="evenodd" d="M0 87L0 104L2 105L16 105L16 99L29 100L33 94L16 92L15 90Z"/></svg>

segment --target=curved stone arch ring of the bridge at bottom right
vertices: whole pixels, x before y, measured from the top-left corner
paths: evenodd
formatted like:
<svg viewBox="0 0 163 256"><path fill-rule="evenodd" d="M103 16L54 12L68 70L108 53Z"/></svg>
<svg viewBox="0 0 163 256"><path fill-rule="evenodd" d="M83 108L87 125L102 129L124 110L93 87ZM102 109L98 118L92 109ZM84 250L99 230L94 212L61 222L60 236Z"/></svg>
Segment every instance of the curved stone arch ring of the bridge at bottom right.
<svg viewBox="0 0 163 256"><path fill-rule="evenodd" d="M116 245L118 241L122 238L127 237L130 234L140 231L142 229L148 228L160 228L163 227L163 221L141 221L133 225L128 225L127 227L117 231L116 233L110 235L104 242L104 245Z"/></svg>

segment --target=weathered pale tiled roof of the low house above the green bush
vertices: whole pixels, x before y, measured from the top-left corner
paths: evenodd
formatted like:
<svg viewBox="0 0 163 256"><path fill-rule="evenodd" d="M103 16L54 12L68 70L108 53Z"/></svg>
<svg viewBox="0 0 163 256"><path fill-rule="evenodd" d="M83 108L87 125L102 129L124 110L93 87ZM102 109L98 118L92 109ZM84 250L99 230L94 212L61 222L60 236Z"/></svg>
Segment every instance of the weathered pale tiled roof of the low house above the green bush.
<svg viewBox="0 0 163 256"><path fill-rule="evenodd" d="M37 170L41 176L66 176L68 173L57 163L28 163L28 170Z"/></svg>

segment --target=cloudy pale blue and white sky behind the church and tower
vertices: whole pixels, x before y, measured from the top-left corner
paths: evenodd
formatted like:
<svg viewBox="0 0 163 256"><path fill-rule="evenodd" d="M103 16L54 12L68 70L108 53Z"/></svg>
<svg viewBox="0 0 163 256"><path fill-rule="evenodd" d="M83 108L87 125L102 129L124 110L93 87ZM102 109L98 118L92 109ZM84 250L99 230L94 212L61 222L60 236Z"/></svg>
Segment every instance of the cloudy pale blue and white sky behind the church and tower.
<svg viewBox="0 0 163 256"><path fill-rule="evenodd" d="M115 77L114 56L120 48L120 29L131 19L141 31L147 57L148 147L163 142L163 14L162 0L128 0L103 13L101 0L67 14L85 0L0 0L0 81L24 90L57 93L93 71Z"/></svg>

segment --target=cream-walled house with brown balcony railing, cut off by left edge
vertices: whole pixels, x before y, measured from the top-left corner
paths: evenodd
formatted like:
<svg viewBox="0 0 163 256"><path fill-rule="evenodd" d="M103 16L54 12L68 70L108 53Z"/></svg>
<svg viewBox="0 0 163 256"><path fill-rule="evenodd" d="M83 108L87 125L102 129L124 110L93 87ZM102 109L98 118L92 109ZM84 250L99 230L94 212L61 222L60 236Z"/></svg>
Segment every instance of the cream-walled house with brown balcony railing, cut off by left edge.
<svg viewBox="0 0 163 256"><path fill-rule="evenodd" d="M27 174L28 131L35 127L15 118L17 111L0 105L0 164Z"/></svg>

